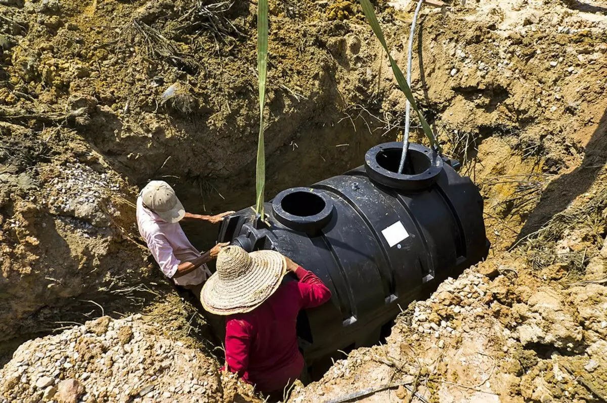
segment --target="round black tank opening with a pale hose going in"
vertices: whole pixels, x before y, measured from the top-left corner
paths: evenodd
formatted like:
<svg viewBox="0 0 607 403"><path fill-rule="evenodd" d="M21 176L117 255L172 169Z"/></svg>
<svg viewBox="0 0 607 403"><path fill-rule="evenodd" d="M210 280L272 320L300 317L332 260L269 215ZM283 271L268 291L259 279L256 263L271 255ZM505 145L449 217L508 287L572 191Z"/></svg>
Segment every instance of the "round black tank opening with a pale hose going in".
<svg viewBox="0 0 607 403"><path fill-rule="evenodd" d="M435 183L443 170L443 159L438 152L421 144L409 144L409 152L402 174L398 174L402 143L394 141L371 148L365 155L365 171L380 185L404 191L421 191Z"/></svg>

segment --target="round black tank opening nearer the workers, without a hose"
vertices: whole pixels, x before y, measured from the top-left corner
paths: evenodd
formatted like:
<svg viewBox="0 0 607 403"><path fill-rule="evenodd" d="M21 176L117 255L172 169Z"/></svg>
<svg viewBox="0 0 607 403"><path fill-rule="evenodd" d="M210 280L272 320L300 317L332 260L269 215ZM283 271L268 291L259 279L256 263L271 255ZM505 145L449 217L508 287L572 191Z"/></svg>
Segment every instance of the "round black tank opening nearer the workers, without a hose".
<svg viewBox="0 0 607 403"><path fill-rule="evenodd" d="M295 231L314 233L331 219L333 202L317 189L291 188L274 197L272 210L282 225Z"/></svg>

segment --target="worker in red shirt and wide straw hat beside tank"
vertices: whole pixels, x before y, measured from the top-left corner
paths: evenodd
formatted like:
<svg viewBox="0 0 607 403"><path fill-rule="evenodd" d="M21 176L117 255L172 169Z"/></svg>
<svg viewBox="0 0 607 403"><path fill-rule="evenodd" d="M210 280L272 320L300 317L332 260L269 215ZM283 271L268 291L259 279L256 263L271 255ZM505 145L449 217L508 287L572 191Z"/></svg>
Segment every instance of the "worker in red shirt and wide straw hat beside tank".
<svg viewBox="0 0 607 403"><path fill-rule="evenodd" d="M282 283L293 272L299 282ZM217 272L200 300L211 313L225 315L226 367L266 393L282 391L304 371L297 348L297 313L331 299L313 273L275 251L247 253L228 246L217 256Z"/></svg>

